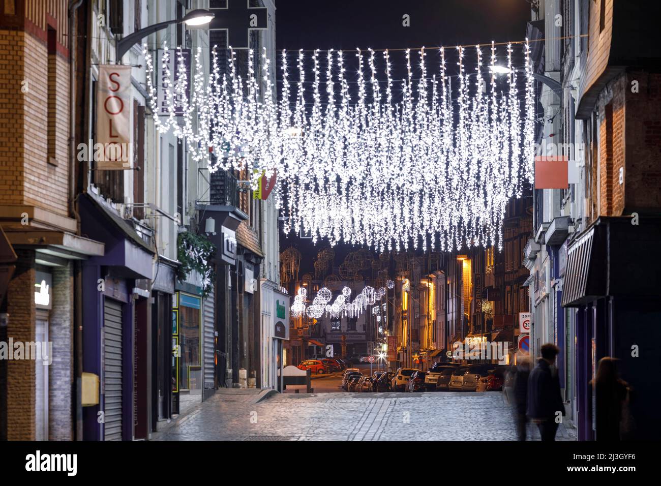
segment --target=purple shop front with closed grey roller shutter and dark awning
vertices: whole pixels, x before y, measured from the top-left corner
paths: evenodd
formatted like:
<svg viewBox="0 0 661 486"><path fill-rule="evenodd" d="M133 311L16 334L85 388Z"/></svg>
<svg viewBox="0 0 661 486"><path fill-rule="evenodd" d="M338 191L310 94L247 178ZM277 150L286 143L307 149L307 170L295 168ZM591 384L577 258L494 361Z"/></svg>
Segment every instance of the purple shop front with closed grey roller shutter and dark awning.
<svg viewBox="0 0 661 486"><path fill-rule="evenodd" d="M83 263L83 372L98 377L98 403L83 407L85 440L145 438L153 248L114 209L80 198L81 229L105 245Z"/></svg>

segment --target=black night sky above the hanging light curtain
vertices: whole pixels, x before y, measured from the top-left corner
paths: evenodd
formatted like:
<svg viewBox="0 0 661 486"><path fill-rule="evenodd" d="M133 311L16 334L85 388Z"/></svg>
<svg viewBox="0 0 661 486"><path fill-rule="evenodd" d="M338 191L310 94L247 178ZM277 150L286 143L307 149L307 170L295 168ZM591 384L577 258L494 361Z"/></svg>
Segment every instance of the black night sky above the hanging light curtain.
<svg viewBox="0 0 661 486"><path fill-rule="evenodd" d="M402 24L405 14L410 16L410 27ZM345 50L351 54L345 56L348 73L357 47L375 50L411 48L413 51L425 46L430 49L427 60L431 74L435 65L432 54L438 57L438 50L434 48L474 46L492 40L496 43L521 41L530 19L527 0L276 0L276 46L278 51L291 51L290 66L295 64L293 56L299 49ZM498 47L499 62L504 61L504 50L504 46ZM490 52L487 51L483 48L488 61ZM473 56L473 52L467 54L467 58ZM520 48L514 56L519 54ZM321 56L325 56L325 52ZM405 63L403 52L391 53L391 60L393 78L403 76L397 71ZM416 58L412 57L413 60ZM455 61L450 58L448 69L455 69ZM474 65L469 69L474 70ZM309 239L281 234L281 250L290 245L301 251L301 274L311 270L317 251L326 246L325 242L320 242L315 247ZM351 249L336 247L335 264L340 264L342 255Z"/></svg>

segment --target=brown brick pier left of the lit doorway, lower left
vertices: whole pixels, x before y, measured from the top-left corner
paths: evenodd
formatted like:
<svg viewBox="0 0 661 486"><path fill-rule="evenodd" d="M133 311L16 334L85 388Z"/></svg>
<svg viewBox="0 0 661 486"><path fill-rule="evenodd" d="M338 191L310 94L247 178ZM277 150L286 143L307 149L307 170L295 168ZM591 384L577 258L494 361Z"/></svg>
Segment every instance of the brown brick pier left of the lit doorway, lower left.
<svg viewBox="0 0 661 486"><path fill-rule="evenodd" d="M16 252L14 278L7 291L7 339L15 342L34 341L34 252ZM7 438L9 440L34 440L35 402L34 360L10 360L7 362Z"/></svg>

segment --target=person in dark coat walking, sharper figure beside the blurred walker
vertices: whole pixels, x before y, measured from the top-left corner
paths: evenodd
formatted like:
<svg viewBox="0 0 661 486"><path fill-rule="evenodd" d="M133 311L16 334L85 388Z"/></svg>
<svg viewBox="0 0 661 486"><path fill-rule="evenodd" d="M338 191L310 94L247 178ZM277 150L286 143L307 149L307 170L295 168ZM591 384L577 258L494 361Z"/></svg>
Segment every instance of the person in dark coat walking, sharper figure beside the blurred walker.
<svg viewBox="0 0 661 486"><path fill-rule="evenodd" d="M539 427L541 440L555 440L558 430L558 412L564 415L563 397L560 393L560 380L551 372L555 357L560 349L555 344L541 346L541 358L528 378L527 417Z"/></svg>

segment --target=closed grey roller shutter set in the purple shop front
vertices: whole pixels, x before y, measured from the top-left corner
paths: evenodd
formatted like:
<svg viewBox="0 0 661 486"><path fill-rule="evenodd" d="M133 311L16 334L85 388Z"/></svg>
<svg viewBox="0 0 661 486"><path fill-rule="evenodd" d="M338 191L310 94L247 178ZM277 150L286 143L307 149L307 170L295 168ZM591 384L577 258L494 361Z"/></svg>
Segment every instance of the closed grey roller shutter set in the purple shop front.
<svg viewBox="0 0 661 486"><path fill-rule="evenodd" d="M105 440L122 440L122 304L106 298L103 332Z"/></svg>

